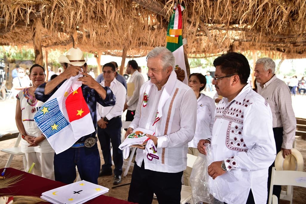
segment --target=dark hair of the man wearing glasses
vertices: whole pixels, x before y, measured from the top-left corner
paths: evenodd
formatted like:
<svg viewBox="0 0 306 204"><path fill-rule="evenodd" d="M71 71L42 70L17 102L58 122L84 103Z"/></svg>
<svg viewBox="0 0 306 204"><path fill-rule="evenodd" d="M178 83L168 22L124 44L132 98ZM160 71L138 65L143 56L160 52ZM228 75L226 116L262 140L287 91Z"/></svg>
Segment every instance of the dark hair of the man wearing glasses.
<svg viewBox="0 0 306 204"><path fill-rule="evenodd" d="M237 52L222 54L214 60L214 66L220 66L221 71L226 74L237 74L241 84L248 83L250 76L250 65L244 55Z"/></svg>

